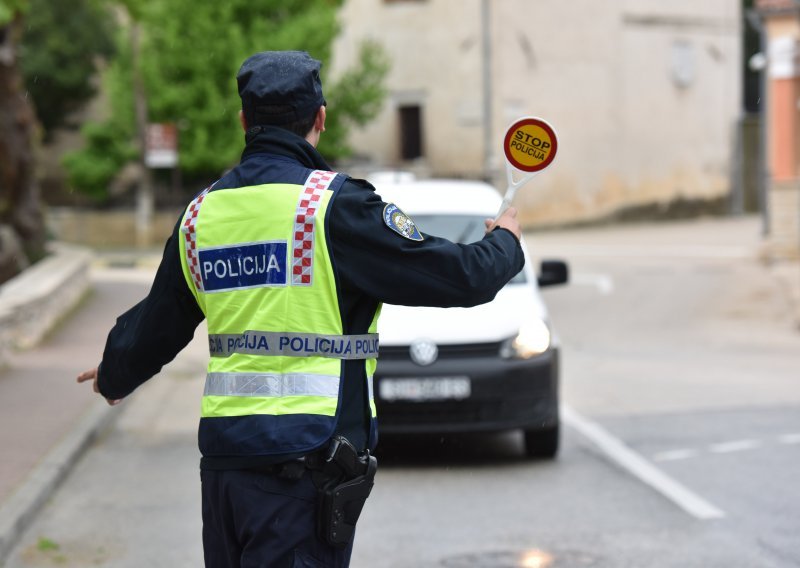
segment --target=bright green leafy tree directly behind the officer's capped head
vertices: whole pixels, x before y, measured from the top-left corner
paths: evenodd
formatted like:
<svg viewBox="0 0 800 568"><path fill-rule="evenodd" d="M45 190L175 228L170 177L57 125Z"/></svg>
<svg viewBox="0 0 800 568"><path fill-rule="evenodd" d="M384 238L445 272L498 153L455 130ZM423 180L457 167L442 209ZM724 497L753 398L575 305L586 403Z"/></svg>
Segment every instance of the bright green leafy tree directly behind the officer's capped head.
<svg viewBox="0 0 800 568"><path fill-rule="evenodd" d="M342 0L150 0L126 2L141 30L139 65L132 65L130 28L121 34L118 57L106 77L112 94L112 117L87 125L87 147L66 162L73 185L105 195L114 173L137 154L134 136L134 70L138 68L147 96L150 122L173 122L179 128L180 168L190 178L213 179L234 164L243 147L238 127L241 103L235 76L252 53L301 49L330 61L338 32L336 16ZM349 148L348 126L362 124L383 98L380 85L388 70L382 52L368 45L357 68L344 81L325 81L331 108L325 151L336 159ZM325 67L323 67L323 73ZM347 82L354 82L348 84ZM109 145L109 138L115 139ZM137 151L138 152L138 151ZM105 156L106 164L97 159ZM108 166L108 167L106 167Z"/></svg>

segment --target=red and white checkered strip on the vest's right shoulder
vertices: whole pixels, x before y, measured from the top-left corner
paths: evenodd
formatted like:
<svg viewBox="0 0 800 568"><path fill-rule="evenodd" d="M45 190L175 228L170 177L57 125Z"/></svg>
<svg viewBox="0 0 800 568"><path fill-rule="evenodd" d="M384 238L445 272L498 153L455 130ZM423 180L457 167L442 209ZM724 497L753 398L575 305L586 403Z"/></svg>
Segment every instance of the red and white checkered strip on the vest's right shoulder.
<svg viewBox="0 0 800 568"><path fill-rule="evenodd" d="M310 286L314 268L314 226L319 202L336 172L311 172L300 193L292 240L292 286Z"/></svg>

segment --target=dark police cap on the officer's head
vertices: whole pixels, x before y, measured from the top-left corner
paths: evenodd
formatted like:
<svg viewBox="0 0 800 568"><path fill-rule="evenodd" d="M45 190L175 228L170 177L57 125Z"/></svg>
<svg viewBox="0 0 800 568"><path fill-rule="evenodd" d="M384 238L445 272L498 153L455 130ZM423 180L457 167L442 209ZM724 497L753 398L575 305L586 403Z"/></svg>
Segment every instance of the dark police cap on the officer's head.
<svg viewBox="0 0 800 568"><path fill-rule="evenodd" d="M263 51L242 63L236 82L248 126L308 118L325 104L322 64L305 51Z"/></svg>

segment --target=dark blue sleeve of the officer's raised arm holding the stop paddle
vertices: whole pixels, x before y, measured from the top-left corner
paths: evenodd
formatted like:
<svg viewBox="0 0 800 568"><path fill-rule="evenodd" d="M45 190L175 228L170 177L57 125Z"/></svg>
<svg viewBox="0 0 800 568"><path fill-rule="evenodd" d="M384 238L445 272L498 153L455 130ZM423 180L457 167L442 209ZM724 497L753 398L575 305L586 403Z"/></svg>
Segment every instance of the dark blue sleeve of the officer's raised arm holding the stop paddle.
<svg viewBox="0 0 800 568"><path fill-rule="evenodd" d="M469 307L488 302L525 263L517 237L498 227L458 244L432 235L412 240L383 219L386 207L367 182L348 180L330 217L340 278L389 304Z"/></svg>

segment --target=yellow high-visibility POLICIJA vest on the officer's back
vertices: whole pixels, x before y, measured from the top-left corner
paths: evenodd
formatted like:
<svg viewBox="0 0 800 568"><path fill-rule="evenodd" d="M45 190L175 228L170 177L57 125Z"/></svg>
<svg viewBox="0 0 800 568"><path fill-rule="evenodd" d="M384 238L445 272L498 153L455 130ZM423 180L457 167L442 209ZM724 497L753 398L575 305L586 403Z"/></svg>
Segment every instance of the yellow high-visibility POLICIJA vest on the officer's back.
<svg viewBox="0 0 800 568"><path fill-rule="evenodd" d="M221 444L229 455L258 451L238 439L253 427L267 430L258 433L270 446L264 454L322 444L335 428L347 359L365 360L375 416L377 313L367 334L344 334L325 231L336 175L205 191L182 219L183 273L206 316L211 355L201 430L224 420L214 436L231 437ZM246 429L237 418L249 419Z"/></svg>

